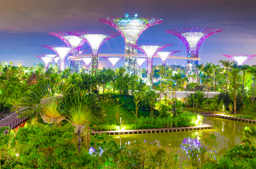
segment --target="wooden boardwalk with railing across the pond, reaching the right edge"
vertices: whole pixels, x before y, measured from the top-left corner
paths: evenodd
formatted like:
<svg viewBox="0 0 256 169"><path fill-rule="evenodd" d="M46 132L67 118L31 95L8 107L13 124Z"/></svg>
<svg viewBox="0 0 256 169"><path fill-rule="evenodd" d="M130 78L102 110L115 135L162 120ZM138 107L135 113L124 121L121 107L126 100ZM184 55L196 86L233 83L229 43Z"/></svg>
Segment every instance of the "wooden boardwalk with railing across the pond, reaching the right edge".
<svg viewBox="0 0 256 169"><path fill-rule="evenodd" d="M201 115L204 117L220 117L220 118L232 119L232 120L237 120L242 122L256 123L256 120L246 119L245 116L242 116L242 115L231 115L223 112L195 112L195 113L201 113Z"/></svg>

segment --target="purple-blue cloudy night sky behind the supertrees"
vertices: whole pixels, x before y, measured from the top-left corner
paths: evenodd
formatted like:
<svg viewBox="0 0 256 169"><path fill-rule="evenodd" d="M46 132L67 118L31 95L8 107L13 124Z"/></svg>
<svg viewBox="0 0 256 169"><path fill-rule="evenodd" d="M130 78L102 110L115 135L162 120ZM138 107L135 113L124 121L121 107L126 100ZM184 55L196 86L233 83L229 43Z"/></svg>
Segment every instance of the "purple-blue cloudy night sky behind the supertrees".
<svg viewBox="0 0 256 169"><path fill-rule="evenodd" d="M223 32L207 38L199 50L200 64L218 64L218 60L228 59L223 54L256 54L255 9L255 0L2 0L0 62L13 61L14 65L20 62L25 66L42 63L33 55L51 54L53 51L41 45L64 44L59 38L49 35L49 32L114 30L98 20L124 13L138 13L140 16L157 17L164 21L144 31L138 42L173 43L173 46L166 49L181 50L175 56L186 56L187 49L181 40L165 33L165 30L180 27L223 29ZM83 49L90 48L85 44ZM103 44L99 53L124 53L123 38L119 36L109 40ZM178 59L167 59L167 62L169 65L184 64L184 60ZM116 66L120 67L121 63L123 59ZM155 58L153 64L160 64L160 58ZM256 64L256 57L245 64ZM68 66L68 62L65 66ZM111 65L101 58L100 66ZM146 62L143 67L146 67Z"/></svg>

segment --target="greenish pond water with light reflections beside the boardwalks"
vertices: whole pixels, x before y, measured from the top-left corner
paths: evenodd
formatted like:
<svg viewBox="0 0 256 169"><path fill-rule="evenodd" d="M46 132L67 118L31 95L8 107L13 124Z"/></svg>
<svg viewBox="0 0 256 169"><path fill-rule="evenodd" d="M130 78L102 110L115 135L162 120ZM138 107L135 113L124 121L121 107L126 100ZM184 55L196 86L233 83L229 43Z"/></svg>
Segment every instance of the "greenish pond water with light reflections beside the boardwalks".
<svg viewBox="0 0 256 169"><path fill-rule="evenodd" d="M148 132L143 134L114 135L113 139L118 143L130 144L130 142L154 142L161 147L181 147L191 136L201 134L215 134L217 139L208 141L208 145L214 149L219 149L217 155L222 156L226 150L233 148L242 142L243 131L246 126L254 126L255 123L240 122L237 120L223 118L209 118L214 122L213 129L193 130L193 131L170 131L170 132ZM197 133L196 133L197 132ZM200 144L200 141L198 141Z"/></svg>

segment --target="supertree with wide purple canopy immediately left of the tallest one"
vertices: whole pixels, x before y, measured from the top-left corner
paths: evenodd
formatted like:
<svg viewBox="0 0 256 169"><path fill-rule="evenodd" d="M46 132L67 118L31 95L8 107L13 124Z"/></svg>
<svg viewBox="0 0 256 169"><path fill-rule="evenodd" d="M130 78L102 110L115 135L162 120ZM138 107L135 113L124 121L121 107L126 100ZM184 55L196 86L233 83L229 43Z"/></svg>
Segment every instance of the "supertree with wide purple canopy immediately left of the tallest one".
<svg viewBox="0 0 256 169"><path fill-rule="evenodd" d="M116 31L104 31L104 30L75 30L68 31L72 35L76 35L86 41L90 45L92 50L92 74L96 74L99 67L99 48L100 46L113 37L121 35Z"/></svg>

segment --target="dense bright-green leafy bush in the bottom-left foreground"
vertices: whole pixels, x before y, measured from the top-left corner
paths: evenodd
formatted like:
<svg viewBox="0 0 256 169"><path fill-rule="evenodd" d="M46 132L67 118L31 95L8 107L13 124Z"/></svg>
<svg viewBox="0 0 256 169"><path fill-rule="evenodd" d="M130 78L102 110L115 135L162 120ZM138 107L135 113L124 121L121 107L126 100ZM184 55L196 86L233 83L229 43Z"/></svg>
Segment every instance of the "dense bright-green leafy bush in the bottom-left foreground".
<svg viewBox="0 0 256 169"><path fill-rule="evenodd" d="M22 168L68 168L79 164L79 155L72 143L71 123L58 126L37 123L20 128L13 137Z"/></svg>

